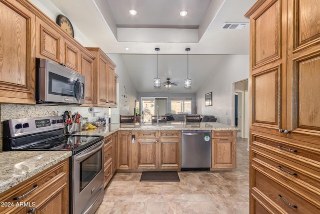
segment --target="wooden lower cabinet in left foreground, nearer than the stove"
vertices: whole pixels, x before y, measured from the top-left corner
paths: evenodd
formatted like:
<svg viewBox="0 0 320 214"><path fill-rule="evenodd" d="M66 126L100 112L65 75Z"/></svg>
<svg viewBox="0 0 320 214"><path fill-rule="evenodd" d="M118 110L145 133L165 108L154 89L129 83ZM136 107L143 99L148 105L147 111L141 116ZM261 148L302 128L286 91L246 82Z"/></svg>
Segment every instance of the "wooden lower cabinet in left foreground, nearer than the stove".
<svg viewBox="0 0 320 214"><path fill-rule="evenodd" d="M69 213L69 159L0 193L0 201L0 213Z"/></svg>

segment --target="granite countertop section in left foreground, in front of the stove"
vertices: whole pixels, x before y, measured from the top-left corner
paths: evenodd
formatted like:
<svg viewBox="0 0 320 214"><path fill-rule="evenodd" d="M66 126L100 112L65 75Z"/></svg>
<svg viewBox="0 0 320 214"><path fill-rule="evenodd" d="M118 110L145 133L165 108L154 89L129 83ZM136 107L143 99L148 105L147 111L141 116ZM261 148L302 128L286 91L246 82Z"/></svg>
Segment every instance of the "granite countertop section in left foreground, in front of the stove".
<svg viewBox="0 0 320 214"><path fill-rule="evenodd" d="M71 151L0 152L0 193L71 155Z"/></svg>

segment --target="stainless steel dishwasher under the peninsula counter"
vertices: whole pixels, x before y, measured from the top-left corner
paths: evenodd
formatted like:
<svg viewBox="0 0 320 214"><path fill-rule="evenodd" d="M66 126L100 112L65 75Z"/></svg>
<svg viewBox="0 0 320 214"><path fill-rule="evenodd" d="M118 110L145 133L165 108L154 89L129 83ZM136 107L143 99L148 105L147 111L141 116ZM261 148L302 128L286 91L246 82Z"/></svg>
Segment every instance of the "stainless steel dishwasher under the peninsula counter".
<svg viewBox="0 0 320 214"><path fill-rule="evenodd" d="M181 171L210 170L211 130L181 131Z"/></svg>

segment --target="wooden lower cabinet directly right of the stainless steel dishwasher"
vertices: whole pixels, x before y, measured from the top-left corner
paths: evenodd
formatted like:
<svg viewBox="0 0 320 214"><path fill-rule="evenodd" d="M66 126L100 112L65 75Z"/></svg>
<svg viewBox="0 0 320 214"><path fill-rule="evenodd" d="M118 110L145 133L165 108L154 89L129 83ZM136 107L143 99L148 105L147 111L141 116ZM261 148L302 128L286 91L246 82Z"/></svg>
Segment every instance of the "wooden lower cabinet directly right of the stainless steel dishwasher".
<svg viewBox="0 0 320 214"><path fill-rule="evenodd" d="M211 169L236 167L236 130L212 130Z"/></svg>

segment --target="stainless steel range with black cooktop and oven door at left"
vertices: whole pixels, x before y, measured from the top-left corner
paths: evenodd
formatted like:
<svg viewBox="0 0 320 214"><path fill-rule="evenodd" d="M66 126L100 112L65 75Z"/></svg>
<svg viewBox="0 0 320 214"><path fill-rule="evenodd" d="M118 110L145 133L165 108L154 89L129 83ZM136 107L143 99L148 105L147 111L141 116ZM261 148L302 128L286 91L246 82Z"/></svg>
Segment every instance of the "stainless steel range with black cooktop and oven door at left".
<svg viewBox="0 0 320 214"><path fill-rule="evenodd" d="M61 117L3 121L3 150L69 150L70 213L94 213L103 199L103 137L65 135Z"/></svg>

